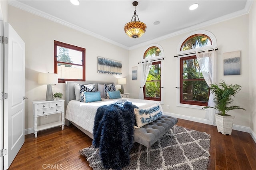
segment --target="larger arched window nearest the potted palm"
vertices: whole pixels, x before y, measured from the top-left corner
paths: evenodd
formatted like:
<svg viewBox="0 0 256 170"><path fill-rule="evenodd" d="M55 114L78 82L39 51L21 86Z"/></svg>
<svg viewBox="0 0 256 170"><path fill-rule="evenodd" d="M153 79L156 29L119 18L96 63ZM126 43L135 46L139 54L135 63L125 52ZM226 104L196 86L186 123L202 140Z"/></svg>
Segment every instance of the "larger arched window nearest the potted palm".
<svg viewBox="0 0 256 170"><path fill-rule="evenodd" d="M207 106L210 89L204 80L196 57L196 51L205 51L217 47L215 36L198 30L185 36L177 48L178 79L180 91L178 105Z"/></svg>

